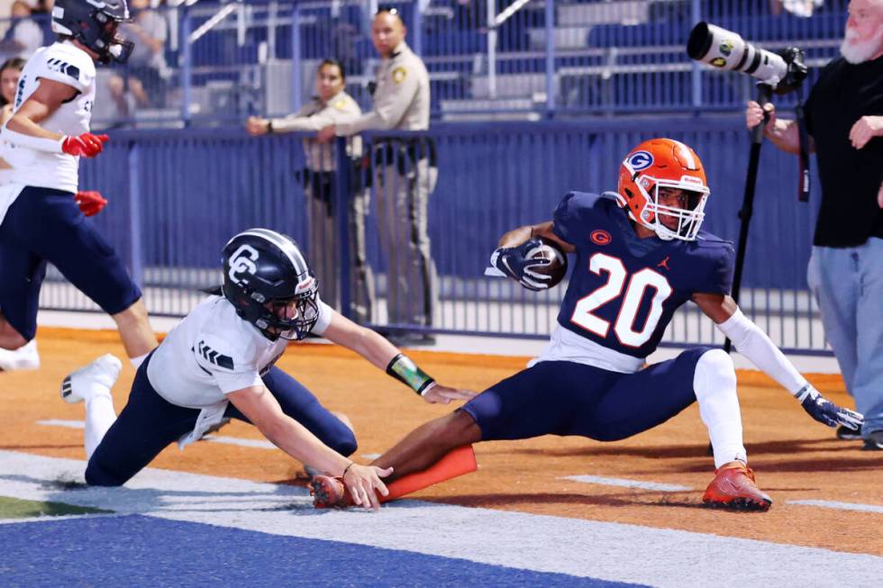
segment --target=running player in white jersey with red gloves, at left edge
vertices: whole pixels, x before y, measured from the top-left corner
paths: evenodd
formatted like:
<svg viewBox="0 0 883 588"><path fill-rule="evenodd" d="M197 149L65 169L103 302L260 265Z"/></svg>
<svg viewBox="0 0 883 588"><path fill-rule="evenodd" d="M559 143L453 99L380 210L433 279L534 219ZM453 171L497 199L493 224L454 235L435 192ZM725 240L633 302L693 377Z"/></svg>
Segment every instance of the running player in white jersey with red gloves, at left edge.
<svg viewBox="0 0 883 588"><path fill-rule="evenodd" d="M84 222L105 200L77 186L79 158L96 157L107 140L89 132L96 62L128 58L132 43L117 33L128 19L125 0L58 0L52 30L59 41L37 50L22 71L0 132L0 157L13 168L0 188L0 348L34 338L48 262L113 317L133 365L157 346L141 290Z"/></svg>

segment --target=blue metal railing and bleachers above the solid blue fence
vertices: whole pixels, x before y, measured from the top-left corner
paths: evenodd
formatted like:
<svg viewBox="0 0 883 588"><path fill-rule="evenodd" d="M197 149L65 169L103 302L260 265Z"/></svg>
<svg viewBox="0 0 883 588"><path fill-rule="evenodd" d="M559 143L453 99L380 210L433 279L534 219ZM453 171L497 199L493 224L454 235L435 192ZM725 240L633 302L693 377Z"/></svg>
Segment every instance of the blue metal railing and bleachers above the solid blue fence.
<svg viewBox="0 0 883 588"><path fill-rule="evenodd" d="M141 41L128 66L99 69L97 126L229 124L250 114L290 113L313 92L315 68L325 58L341 61L350 94L370 107L376 2L177 4L135 17L160 41L159 50ZM430 72L436 120L738 109L753 95L751 78L688 59L694 23L719 24L769 50L803 48L811 83L836 55L846 22L846 0L826 0L809 17L771 14L767 0L389 5ZM794 94L779 102L796 100Z"/></svg>

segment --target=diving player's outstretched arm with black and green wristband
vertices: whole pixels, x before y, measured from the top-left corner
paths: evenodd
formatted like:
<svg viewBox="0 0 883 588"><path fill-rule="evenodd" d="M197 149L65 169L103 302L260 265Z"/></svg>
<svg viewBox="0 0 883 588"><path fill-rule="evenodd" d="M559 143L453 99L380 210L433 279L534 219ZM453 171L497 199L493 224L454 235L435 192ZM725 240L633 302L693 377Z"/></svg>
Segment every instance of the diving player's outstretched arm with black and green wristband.
<svg viewBox="0 0 883 588"><path fill-rule="evenodd" d="M452 400L469 400L475 393L438 384L416 366L395 345L373 330L366 329L340 312L332 311L331 324L322 333L325 339L352 349L375 366L392 375L420 394L427 403L447 404Z"/></svg>

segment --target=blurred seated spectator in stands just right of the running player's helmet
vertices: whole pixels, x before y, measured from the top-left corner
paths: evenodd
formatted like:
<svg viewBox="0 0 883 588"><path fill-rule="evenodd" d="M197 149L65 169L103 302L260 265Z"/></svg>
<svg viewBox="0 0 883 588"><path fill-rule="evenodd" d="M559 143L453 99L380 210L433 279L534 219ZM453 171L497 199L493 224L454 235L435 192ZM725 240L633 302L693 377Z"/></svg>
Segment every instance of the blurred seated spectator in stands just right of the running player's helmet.
<svg viewBox="0 0 883 588"><path fill-rule="evenodd" d="M108 81L117 113L123 118L131 114L127 89L137 106L161 108L171 74L164 54L168 40L166 17L150 7L150 0L130 0L130 5L133 21L124 23L120 30L135 41L135 49L126 67L119 70L122 75L114 74Z"/></svg>

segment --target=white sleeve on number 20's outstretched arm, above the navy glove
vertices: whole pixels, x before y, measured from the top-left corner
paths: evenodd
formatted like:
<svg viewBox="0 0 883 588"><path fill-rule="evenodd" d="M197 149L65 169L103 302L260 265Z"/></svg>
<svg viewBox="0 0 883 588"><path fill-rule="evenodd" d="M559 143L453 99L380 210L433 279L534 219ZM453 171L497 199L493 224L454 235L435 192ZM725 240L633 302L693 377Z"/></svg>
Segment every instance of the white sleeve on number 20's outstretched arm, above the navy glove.
<svg viewBox="0 0 883 588"><path fill-rule="evenodd" d="M806 385L806 378L741 310L736 309L733 316L715 326L733 341L733 347L739 353L748 357L752 364L760 367L791 394L797 394Z"/></svg>

